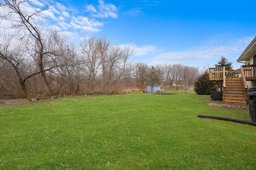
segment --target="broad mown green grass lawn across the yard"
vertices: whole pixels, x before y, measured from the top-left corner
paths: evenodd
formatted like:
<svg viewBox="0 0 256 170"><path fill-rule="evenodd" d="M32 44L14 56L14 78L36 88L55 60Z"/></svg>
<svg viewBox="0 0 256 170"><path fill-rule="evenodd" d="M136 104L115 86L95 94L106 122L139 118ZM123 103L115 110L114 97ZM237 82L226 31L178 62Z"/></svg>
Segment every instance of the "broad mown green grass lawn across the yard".
<svg viewBox="0 0 256 170"><path fill-rule="evenodd" d="M256 169L249 111L210 96L131 93L0 106L0 169Z"/></svg>

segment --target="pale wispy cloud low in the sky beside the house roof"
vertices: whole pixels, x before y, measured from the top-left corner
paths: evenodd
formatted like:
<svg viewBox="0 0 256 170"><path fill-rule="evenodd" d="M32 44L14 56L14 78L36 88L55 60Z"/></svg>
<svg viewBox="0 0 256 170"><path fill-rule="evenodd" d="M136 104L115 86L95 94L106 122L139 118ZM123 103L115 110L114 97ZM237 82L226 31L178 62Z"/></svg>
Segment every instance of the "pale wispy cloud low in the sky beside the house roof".
<svg viewBox="0 0 256 170"><path fill-rule="evenodd" d="M194 61L219 59L221 56L229 56L235 63L247 45L254 37L244 37L242 39L212 39L205 42L205 45L188 51L167 51L158 53L152 63L189 63Z"/></svg>

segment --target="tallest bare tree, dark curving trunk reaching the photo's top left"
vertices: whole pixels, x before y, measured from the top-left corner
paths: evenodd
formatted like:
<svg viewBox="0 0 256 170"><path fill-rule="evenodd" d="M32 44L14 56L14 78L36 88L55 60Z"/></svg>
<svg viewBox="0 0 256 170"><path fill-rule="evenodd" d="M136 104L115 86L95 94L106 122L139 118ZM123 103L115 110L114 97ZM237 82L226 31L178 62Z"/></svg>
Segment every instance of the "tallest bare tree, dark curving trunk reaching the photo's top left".
<svg viewBox="0 0 256 170"><path fill-rule="evenodd" d="M1 16L2 19L11 21L12 27L18 31L21 39L26 41L26 44L32 43L33 49L30 50L30 55L33 55L39 66L40 73L50 93L54 92L47 80L45 68L44 68L44 56L48 51L45 51L43 29L40 28L36 22L36 17L40 16L40 12L47 10L49 5L45 4L44 8L40 10L36 8L33 12L23 10L24 3L30 3L30 0L2 0L0 7L4 8L8 13L5 16Z"/></svg>

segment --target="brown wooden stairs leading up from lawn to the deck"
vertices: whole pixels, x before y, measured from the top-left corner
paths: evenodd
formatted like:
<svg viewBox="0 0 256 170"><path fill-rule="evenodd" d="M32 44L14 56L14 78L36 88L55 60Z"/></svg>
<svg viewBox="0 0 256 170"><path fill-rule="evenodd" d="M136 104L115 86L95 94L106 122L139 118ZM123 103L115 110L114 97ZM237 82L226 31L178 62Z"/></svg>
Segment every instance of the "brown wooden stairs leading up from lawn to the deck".
<svg viewBox="0 0 256 170"><path fill-rule="evenodd" d="M226 87L223 88L223 102L225 104L247 105L242 79L226 78Z"/></svg>

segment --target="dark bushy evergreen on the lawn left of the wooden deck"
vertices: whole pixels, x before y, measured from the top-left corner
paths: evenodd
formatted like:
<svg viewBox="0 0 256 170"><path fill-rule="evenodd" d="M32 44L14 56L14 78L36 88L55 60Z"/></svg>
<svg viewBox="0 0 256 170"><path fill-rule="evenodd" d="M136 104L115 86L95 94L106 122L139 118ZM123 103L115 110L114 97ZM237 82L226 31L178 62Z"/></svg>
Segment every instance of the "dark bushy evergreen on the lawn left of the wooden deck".
<svg viewBox="0 0 256 170"><path fill-rule="evenodd" d="M216 90L216 83L209 80L209 73L205 71L195 82L194 91L199 95L210 95Z"/></svg>

